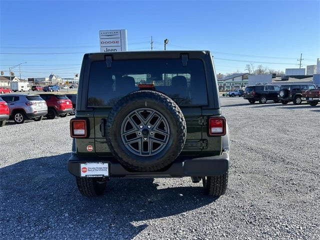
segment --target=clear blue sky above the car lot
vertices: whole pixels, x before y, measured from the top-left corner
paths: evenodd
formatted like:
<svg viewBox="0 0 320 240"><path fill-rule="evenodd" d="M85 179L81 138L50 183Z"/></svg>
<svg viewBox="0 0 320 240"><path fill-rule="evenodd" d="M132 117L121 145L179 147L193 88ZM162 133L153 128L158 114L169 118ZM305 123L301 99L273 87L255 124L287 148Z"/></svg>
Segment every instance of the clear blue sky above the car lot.
<svg viewBox="0 0 320 240"><path fill-rule="evenodd" d="M155 49L168 38L167 49L211 50L217 72L243 72L250 62L284 70L300 53L304 66L316 64L319 12L318 0L0 0L0 69L27 62L22 78L72 77L84 52L99 51L99 29L125 28L128 50L148 50L152 35Z"/></svg>

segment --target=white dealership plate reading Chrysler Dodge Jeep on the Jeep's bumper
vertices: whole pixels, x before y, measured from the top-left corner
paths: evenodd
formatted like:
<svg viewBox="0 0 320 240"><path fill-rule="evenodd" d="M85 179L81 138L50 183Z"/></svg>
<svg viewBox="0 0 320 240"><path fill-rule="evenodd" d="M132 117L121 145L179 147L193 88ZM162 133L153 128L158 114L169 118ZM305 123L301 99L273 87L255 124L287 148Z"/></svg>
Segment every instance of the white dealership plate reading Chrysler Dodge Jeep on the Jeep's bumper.
<svg viewBox="0 0 320 240"><path fill-rule="evenodd" d="M80 164L81 176L101 177L109 175L109 163L107 162L87 162Z"/></svg>

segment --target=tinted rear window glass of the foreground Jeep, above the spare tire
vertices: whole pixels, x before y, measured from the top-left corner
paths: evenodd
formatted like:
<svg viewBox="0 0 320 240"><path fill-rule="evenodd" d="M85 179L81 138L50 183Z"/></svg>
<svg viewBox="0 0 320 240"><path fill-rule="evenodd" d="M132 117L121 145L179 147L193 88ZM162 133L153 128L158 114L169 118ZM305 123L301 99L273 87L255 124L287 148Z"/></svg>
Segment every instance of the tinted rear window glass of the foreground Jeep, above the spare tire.
<svg viewBox="0 0 320 240"><path fill-rule="evenodd" d="M88 106L111 106L122 96L139 90L138 84L152 83L180 105L207 105L203 62L188 59L113 60L91 63Z"/></svg>

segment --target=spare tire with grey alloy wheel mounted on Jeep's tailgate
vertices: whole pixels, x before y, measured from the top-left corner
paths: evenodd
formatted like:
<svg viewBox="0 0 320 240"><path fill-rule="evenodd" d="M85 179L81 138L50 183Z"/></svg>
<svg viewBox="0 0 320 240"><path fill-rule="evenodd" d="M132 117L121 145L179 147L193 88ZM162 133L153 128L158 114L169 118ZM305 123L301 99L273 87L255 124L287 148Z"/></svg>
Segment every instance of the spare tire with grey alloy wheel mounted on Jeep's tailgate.
<svg viewBox="0 0 320 240"><path fill-rule="evenodd" d="M108 147L125 167L155 171L179 155L186 124L179 106L152 90L132 92L113 106L105 127Z"/></svg>

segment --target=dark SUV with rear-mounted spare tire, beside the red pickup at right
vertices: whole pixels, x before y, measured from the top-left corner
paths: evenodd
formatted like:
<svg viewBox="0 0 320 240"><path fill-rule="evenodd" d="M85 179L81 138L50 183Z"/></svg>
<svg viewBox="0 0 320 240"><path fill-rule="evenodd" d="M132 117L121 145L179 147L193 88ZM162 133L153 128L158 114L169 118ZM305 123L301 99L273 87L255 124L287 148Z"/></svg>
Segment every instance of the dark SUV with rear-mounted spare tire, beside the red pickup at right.
<svg viewBox="0 0 320 240"><path fill-rule="evenodd" d="M307 89L315 89L314 84L288 84L281 85L278 93L278 97L282 104L286 104L290 101L293 104L301 104L302 100L302 91Z"/></svg>

